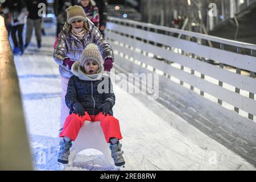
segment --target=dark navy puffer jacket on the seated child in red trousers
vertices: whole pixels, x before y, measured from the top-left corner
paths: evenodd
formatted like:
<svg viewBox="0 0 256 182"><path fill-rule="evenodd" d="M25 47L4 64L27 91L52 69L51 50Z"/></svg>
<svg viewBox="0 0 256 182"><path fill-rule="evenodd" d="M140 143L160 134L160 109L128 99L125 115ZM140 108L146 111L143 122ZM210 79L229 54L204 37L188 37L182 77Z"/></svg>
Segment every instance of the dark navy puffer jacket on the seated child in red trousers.
<svg viewBox="0 0 256 182"><path fill-rule="evenodd" d="M74 63L72 71L74 75L68 81L68 89L65 96L65 102L70 109L70 113L74 110L73 105L76 102L80 102L89 115L96 115L102 111L97 107L109 102L110 112L113 114L112 107L115 104L115 95L110 78L102 76L102 73L99 73L96 78L86 76L81 70L79 62Z"/></svg>

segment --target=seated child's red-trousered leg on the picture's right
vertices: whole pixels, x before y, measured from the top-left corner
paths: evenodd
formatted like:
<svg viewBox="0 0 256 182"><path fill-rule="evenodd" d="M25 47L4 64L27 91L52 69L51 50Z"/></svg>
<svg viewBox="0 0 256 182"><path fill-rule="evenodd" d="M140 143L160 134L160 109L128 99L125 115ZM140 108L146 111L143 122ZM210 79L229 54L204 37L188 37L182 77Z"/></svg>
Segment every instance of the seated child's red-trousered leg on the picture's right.
<svg viewBox="0 0 256 182"><path fill-rule="evenodd" d="M107 143L109 143L110 138L117 138L119 140L123 138L120 131L119 121L113 117L113 115L108 114L105 116L101 112L98 113L93 120L101 122L101 128Z"/></svg>

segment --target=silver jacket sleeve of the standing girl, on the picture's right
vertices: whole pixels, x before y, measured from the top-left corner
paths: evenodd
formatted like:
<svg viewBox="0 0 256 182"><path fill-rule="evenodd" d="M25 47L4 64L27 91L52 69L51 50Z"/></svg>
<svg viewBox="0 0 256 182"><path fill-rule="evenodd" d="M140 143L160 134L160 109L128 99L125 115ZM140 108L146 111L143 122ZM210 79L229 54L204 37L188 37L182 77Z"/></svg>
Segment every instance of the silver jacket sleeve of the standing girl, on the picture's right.
<svg viewBox="0 0 256 182"><path fill-rule="evenodd" d="M107 58L110 58L114 62L114 54L113 54L112 47L103 38L100 30L98 30L98 28L96 28L94 26L94 24L92 25L92 28L93 28L92 37L93 37L93 40L94 40L93 42L100 48L100 52L101 52L103 60L105 61Z"/></svg>

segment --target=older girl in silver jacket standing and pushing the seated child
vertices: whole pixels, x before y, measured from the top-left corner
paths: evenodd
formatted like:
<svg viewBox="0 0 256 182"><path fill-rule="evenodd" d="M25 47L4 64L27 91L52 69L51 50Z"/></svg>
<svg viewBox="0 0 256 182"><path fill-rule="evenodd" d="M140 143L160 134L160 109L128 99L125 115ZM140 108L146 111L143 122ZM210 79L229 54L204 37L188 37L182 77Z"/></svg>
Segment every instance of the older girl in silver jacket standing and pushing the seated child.
<svg viewBox="0 0 256 182"><path fill-rule="evenodd" d="M103 38L98 28L86 18L84 9L75 5L68 7L66 11L67 21L59 34L57 46L53 53L56 63L59 64L61 75L61 127L63 127L65 118L69 115L69 109L65 105L65 94L67 93L69 78L73 76L71 67L75 61L80 59L85 47L90 43L95 43L100 48L104 60L104 71L110 71L114 62L112 47Z"/></svg>

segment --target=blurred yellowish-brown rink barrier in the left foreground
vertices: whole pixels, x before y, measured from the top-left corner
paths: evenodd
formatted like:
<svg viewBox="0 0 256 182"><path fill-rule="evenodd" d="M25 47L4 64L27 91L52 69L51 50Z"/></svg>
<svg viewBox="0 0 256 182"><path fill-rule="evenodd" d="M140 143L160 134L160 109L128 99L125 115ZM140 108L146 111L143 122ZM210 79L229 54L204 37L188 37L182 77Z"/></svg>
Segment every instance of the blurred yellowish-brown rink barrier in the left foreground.
<svg viewBox="0 0 256 182"><path fill-rule="evenodd" d="M32 170L13 52L0 16L0 171Z"/></svg>

